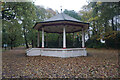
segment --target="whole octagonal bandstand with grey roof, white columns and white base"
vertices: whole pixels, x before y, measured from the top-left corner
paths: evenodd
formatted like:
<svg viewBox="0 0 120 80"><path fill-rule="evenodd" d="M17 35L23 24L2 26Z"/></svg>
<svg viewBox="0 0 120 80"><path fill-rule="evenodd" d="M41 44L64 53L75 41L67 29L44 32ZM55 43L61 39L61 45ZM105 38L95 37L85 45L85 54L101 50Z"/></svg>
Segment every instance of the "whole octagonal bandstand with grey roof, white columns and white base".
<svg viewBox="0 0 120 80"><path fill-rule="evenodd" d="M81 22L64 13L57 14L43 22L37 22L34 29L38 30L37 46L38 48L29 48L26 50L27 56L53 56L53 57L77 57L87 56L85 48L85 30L89 23ZM40 31L42 31L42 47L40 48ZM67 48L66 33L75 33L82 31L82 48ZM63 48L45 48L44 32L63 34Z"/></svg>

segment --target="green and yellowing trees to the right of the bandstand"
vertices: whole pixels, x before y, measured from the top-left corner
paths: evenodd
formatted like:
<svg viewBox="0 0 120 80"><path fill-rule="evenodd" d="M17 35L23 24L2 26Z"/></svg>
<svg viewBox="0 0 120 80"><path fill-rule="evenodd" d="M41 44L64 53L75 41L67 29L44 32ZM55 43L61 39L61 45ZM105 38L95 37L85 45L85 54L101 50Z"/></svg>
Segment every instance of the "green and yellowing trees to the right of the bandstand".
<svg viewBox="0 0 120 80"><path fill-rule="evenodd" d="M102 47L100 40L105 40L105 47L119 48L115 45L120 44L119 37L119 3L91 2L80 11L81 19L90 22L88 47ZM90 34L92 32L92 34ZM93 42L92 42L93 41ZM116 44L117 41L117 44Z"/></svg>

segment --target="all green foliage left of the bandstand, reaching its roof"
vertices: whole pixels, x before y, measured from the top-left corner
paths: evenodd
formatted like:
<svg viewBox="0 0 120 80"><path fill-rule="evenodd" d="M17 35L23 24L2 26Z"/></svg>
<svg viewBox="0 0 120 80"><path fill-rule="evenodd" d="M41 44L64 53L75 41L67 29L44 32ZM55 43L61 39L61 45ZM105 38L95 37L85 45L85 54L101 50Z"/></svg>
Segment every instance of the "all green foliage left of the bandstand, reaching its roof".
<svg viewBox="0 0 120 80"><path fill-rule="evenodd" d="M4 2L2 5L3 42L11 47L37 45L37 31L33 26L37 21L55 15L52 9L35 6L32 2Z"/></svg>

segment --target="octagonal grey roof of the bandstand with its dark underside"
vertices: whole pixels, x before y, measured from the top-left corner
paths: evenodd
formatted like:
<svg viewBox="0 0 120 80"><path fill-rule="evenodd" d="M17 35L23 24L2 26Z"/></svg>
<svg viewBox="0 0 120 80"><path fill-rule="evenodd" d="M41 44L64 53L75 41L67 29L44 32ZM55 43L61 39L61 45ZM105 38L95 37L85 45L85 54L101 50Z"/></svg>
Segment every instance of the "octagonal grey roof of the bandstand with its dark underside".
<svg viewBox="0 0 120 80"><path fill-rule="evenodd" d="M83 29L88 29L89 23L81 22L64 13L57 14L43 22L37 22L33 27L36 30L42 30L48 33L62 33L63 27L66 28L67 33L78 32Z"/></svg>

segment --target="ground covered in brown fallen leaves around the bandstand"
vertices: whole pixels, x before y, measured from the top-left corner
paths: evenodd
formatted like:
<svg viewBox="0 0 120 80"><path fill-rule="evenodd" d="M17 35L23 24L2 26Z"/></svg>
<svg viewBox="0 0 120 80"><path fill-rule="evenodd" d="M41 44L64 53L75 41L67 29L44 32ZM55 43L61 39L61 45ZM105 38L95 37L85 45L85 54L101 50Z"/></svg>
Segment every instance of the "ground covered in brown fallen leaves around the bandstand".
<svg viewBox="0 0 120 80"><path fill-rule="evenodd" d="M25 49L3 52L5 78L117 78L118 51L87 49L87 57L25 57Z"/></svg>

